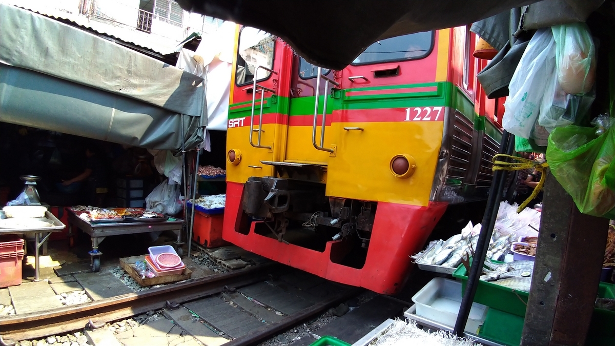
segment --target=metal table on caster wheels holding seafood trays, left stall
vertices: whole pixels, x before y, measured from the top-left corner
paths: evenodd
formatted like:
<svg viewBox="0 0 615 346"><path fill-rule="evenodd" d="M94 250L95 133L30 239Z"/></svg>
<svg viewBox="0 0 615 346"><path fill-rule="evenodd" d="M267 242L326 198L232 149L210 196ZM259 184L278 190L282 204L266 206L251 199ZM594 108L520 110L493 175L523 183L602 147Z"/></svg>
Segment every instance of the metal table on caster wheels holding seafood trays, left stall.
<svg viewBox="0 0 615 346"><path fill-rule="evenodd" d="M77 214L68 210L68 238L70 246L74 245L73 227L77 227L92 237L92 251L89 252L92 260L92 272L100 271L100 256L103 254L98 251L98 245L108 236L129 235L136 233L149 233L157 231L173 231L177 236L173 247L180 257L183 257L183 249L180 241L180 232L183 228L183 220L162 222L114 222L114 223L90 223L81 219Z"/></svg>

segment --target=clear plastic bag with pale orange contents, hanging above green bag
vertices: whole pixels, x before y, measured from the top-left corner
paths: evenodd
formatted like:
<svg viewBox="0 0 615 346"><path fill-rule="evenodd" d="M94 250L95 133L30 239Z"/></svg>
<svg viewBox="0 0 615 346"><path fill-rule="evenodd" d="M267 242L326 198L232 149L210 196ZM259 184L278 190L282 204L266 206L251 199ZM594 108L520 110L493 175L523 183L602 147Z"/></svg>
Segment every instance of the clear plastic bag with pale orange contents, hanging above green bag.
<svg viewBox="0 0 615 346"><path fill-rule="evenodd" d="M568 94L585 94L596 79L596 56L592 34L585 23L552 26L557 42L555 63L561 89Z"/></svg>

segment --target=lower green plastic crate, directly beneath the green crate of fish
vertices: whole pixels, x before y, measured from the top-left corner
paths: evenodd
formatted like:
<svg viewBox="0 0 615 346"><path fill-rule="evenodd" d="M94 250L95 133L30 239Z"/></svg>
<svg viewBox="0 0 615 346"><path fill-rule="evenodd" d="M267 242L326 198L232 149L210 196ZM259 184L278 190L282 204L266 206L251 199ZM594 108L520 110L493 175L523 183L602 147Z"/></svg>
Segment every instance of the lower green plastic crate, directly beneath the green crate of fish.
<svg viewBox="0 0 615 346"><path fill-rule="evenodd" d="M489 308L478 335L498 344L518 346L523 332L523 320L521 316Z"/></svg>

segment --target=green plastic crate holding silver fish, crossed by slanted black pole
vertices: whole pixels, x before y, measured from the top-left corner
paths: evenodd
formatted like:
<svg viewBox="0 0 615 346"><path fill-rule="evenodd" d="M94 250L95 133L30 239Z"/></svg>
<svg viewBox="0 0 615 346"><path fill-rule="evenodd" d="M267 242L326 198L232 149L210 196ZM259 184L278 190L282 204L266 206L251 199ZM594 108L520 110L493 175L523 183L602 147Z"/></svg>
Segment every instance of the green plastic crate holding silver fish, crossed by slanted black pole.
<svg viewBox="0 0 615 346"><path fill-rule="evenodd" d="M491 261L499 264L502 262ZM467 270L463 265L453 272L453 276L461 280L461 294L466 293ZM502 312L512 313L513 315L525 317L525 310L528 304L529 292L515 291L498 284L487 281L478 281L474 302L486 305L490 308L501 310Z"/></svg>

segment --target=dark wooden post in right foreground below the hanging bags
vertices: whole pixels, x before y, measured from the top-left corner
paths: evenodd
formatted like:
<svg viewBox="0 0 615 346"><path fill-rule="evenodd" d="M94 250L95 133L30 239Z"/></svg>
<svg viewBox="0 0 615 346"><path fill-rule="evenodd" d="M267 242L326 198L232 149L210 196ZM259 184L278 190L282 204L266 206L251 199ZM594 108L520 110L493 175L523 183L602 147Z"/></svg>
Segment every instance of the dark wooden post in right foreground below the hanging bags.
<svg viewBox="0 0 615 346"><path fill-rule="evenodd" d="M608 225L581 214L549 172L522 346L585 344Z"/></svg>

